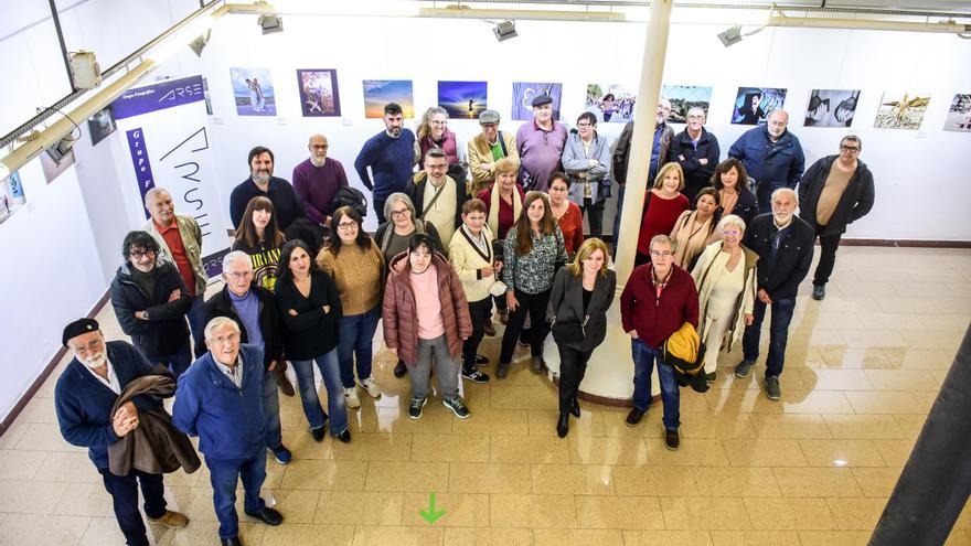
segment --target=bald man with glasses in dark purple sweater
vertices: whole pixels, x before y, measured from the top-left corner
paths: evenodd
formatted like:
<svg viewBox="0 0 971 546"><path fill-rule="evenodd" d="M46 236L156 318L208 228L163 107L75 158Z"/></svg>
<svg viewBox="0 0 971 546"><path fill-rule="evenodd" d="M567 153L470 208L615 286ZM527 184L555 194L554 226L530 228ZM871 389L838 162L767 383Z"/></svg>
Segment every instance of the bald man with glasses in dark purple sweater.
<svg viewBox="0 0 971 546"><path fill-rule="evenodd" d="M348 186L348 175L340 161L328 158L328 142L323 135L313 135L307 144L310 158L294 168L294 190L307 208L310 222L330 227L334 194Z"/></svg>

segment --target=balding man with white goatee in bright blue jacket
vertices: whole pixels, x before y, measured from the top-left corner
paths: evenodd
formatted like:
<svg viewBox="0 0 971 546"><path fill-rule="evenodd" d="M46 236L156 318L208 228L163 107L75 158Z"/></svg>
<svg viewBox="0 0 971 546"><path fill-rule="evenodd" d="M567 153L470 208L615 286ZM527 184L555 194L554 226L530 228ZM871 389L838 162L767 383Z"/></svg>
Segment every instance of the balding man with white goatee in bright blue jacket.
<svg viewBox="0 0 971 546"><path fill-rule="evenodd" d="M796 190L805 170L802 146L786 127L789 114L776 110L768 122L745 131L728 150L728 157L741 161L755 180L759 214L772 212L772 192L779 188Z"/></svg>

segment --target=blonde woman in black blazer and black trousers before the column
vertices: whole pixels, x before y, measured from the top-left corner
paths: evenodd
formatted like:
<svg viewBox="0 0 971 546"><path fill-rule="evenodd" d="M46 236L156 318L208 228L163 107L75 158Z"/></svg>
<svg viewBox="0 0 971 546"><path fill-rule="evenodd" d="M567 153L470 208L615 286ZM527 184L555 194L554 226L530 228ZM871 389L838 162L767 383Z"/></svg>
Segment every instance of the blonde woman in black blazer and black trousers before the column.
<svg viewBox="0 0 971 546"><path fill-rule="evenodd" d="M556 433L569 431L569 414L580 416L577 392L594 350L607 335L607 309L613 302L617 275L607 269L607 245L591 237L580 245L573 264L562 267L553 280L549 308L553 336L559 350L559 420ZM558 335L559 326L581 325L583 336Z"/></svg>

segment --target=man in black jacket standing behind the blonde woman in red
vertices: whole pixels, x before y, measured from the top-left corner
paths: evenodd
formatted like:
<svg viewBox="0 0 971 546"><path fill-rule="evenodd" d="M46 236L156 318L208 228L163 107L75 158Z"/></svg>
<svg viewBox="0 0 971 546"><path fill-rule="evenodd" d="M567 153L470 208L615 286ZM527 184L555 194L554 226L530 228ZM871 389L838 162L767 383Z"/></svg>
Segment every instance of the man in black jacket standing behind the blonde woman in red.
<svg viewBox="0 0 971 546"><path fill-rule="evenodd" d="M718 164L722 150L718 139L704 128L705 110L694 106L687 110L687 125L671 139L668 161L674 161L684 171L684 190L681 193L694 203L695 195L707 188L708 180Z"/></svg>

